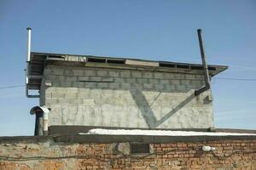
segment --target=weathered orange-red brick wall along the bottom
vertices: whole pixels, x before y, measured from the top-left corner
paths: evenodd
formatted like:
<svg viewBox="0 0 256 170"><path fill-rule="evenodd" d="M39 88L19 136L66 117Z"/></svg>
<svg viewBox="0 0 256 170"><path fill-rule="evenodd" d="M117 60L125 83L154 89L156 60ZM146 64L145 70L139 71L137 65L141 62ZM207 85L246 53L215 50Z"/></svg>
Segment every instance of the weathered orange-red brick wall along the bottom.
<svg viewBox="0 0 256 170"><path fill-rule="evenodd" d="M204 152L203 145L216 150ZM139 156L129 143L2 142L0 169L256 169L255 152L256 139L150 144L150 153Z"/></svg>

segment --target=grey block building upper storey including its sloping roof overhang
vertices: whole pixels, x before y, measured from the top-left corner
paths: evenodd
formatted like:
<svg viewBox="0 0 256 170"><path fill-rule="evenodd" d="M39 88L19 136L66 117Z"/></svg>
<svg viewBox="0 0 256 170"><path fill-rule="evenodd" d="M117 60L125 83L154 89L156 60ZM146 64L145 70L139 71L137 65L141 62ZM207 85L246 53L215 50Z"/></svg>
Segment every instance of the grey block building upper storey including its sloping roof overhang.
<svg viewBox="0 0 256 170"><path fill-rule="evenodd" d="M209 65L211 77L227 67ZM202 65L32 53L29 89L50 109L49 126L213 127Z"/></svg>

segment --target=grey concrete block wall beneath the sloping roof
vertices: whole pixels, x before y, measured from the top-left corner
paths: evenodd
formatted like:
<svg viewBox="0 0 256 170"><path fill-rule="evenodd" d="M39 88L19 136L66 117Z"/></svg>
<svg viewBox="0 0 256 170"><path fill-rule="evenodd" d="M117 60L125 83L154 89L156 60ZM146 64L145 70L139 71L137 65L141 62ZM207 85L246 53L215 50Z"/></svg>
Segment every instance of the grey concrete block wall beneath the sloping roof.
<svg viewBox="0 0 256 170"><path fill-rule="evenodd" d="M41 105L50 125L213 127L211 91L195 97L203 75L47 65Z"/></svg>

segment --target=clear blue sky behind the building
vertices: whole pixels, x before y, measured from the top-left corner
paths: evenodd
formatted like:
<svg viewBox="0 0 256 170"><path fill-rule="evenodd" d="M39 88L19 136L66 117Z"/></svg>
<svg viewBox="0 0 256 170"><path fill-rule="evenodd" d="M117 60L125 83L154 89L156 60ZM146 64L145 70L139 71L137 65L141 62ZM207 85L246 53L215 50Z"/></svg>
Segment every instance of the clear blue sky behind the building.
<svg viewBox="0 0 256 170"><path fill-rule="evenodd" d="M73 2L73 3L71 3ZM26 99L26 27L32 51L229 65L212 79L216 127L256 129L256 1L0 1L0 136L33 135L38 99Z"/></svg>

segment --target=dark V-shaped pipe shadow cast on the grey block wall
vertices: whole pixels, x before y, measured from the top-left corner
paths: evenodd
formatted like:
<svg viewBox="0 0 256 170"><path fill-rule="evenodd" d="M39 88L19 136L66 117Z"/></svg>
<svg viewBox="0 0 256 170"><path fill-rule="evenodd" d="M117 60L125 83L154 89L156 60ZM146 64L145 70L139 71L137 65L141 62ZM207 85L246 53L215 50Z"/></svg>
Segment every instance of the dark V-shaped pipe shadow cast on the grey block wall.
<svg viewBox="0 0 256 170"><path fill-rule="evenodd" d="M179 105L177 105L174 109L172 109L172 111L169 111L165 116L161 117L160 120L157 120L154 116L154 111L152 111L151 109L151 105L153 103L151 105L148 104L148 100L145 98L142 91L137 88L134 88L134 89L131 89L130 92L131 92L132 98L136 101L136 104L139 110L142 112L143 118L145 122L147 122L149 128L159 127L160 124L162 124L163 122L166 122L168 118L170 118L172 115L177 113L177 111L182 109L183 106L187 105L192 99L195 98L194 93L190 94L186 99L180 102ZM154 101L160 96L160 94L157 95Z"/></svg>

